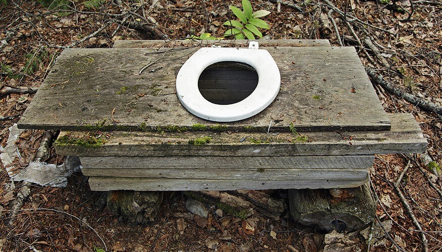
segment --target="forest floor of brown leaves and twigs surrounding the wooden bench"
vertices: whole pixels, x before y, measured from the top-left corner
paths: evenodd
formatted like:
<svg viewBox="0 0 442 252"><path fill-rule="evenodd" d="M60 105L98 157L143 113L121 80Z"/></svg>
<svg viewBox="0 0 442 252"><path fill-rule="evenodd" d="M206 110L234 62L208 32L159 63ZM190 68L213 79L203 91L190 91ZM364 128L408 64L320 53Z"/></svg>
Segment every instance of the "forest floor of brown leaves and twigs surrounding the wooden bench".
<svg viewBox="0 0 442 252"><path fill-rule="evenodd" d="M52 2L63 5L54 7ZM222 37L227 30L222 24L234 19L230 5L241 6L239 1L218 0L1 0L2 146L8 140L8 128L32 100L29 88L42 83L63 48L112 47L117 39L184 39L205 32ZM442 2L252 1L252 7L271 12L262 18L270 26L263 30L264 38L329 39L339 46L338 30L342 44L355 46L365 66L404 92L438 105L442 102ZM430 166L437 168L442 162L440 114L423 110L378 84L373 86L386 112L415 116L428 140L426 157L434 161ZM21 158L15 160L16 169L32 161L43 133L27 130L20 135ZM244 228L242 219L230 214L219 217L211 213L208 224L201 228L189 216L187 197L182 192L165 194L154 221L135 225L103 209L99 204L102 193L91 191L81 173L71 176L66 188L30 184L29 196L11 218L10 210L23 183L11 183L2 167L0 250L205 251L213 250L209 247L216 244L218 251L438 251L442 250L440 168L434 174L421 157L376 157L369 173L377 201L372 226L378 232L373 232L371 238L359 232L345 236L320 233L294 223L287 211L280 219L256 212L247 219L254 226L253 232ZM50 157L44 161L62 164L64 157L51 148ZM399 188L410 209L394 187L405 168ZM277 198L286 197L284 190L271 193ZM412 216L420 227L412 222Z"/></svg>

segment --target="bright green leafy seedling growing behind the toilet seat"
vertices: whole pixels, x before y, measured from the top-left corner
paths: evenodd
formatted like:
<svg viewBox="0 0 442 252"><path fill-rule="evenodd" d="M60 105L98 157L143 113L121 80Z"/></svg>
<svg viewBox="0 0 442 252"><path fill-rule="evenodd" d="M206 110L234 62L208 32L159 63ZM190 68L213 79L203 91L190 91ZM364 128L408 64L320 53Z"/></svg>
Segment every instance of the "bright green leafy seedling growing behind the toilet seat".
<svg viewBox="0 0 442 252"><path fill-rule="evenodd" d="M223 25L230 26L231 28L224 33L225 37L234 36L235 39L255 39L255 35L262 38L262 33L259 28L269 29L268 24L259 19L270 14L269 11L259 10L253 12L252 5L248 0L242 0L243 10L241 11L235 6L229 6L229 9L239 19L229 20L224 22Z"/></svg>

